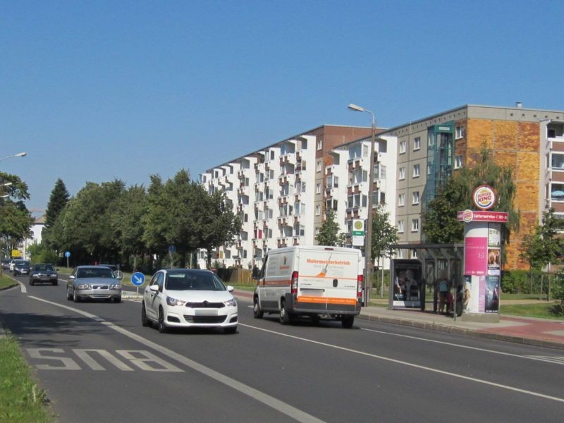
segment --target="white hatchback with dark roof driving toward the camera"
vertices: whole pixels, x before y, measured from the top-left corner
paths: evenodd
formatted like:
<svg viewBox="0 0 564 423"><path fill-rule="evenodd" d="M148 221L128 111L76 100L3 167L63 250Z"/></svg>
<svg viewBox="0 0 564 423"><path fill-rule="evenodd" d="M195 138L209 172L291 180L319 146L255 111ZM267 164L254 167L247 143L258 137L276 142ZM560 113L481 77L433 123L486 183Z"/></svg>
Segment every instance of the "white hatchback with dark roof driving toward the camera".
<svg viewBox="0 0 564 423"><path fill-rule="evenodd" d="M172 327L219 327L235 333L238 307L233 289L209 270L159 270L145 288L141 323L155 323L161 333Z"/></svg>

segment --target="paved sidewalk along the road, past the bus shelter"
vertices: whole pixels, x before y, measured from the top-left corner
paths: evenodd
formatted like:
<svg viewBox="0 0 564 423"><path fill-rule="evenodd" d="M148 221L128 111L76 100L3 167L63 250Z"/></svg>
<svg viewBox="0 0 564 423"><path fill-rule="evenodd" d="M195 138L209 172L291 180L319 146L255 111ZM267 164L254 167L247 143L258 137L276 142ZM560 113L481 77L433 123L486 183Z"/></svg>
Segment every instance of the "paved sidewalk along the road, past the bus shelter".
<svg viewBox="0 0 564 423"><path fill-rule="evenodd" d="M252 298L249 291L235 290L235 295ZM455 321L453 317L419 309L390 310L373 306L362 307L357 319L564 350L564 321L558 320L501 315L499 323L477 323Z"/></svg>

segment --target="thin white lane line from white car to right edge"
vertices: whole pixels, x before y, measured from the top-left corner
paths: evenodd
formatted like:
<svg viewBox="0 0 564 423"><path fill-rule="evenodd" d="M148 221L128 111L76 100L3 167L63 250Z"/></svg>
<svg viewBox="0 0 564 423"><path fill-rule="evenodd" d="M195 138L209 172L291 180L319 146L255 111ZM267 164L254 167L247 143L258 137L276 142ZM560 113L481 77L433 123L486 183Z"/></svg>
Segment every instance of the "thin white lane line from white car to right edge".
<svg viewBox="0 0 564 423"><path fill-rule="evenodd" d="M427 367L427 366L422 366L419 364L413 364L410 362L405 362L402 360L395 360L393 358L390 357L384 357L382 355L376 355L376 354L371 354L371 353L364 353L364 351L359 351L359 350L353 350L351 348L345 348L345 347L340 347L338 345L332 345L329 343L324 343L324 342L319 342L319 341L313 341L312 339L307 339L307 338L302 338L300 336L294 336L294 335L288 335L288 333L281 333L281 332L276 332L276 331L271 331L269 329L263 329L263 328L259 328L257 326L251 326L248 324L241 324L239 323L239 326L245 326L246 328L250 328L250 329L256 329L257 331L264 331L264 332L268 332L268 333L274 333L275 335L279 335L279 336L286 336L287 338L293 338L293 339L297 339L298 341L304 341L304 342L309 342L309 343L314 343L316 345L323 345L325 347L329 347L329 348L335 348L336 350L341 350L341 351L347 351L348 353L354 353L354 354L358 354L358 355L364 355L366 357L372 357L372 358L376 358L378 360L384 360L384 361L388 361L388 362L393 362L396 364L402 364L403 366L409 366L409 367L415 367L415 369L421 369L421 370L427 370L427 372L433 372L433 373L439 373L439 374L444 374L446 376L452 376L455 377L457 379L464 379L466 381L472 381L472 382L477 382L478 384L484 384L484 385L489 385L489 386L495 386L496 388L502 388L502 389L506 389L508 391L514 391L514 392L519 392L519 393L525 393L527 395L530 396L536 396L536 397L540 397L540 398L545 398L547 400L553 400L553 401L557 401L558 403L564 403L564 398L558 398L558 397L554 397L554 396L548 396L545 395L544 393L538 393L538 392L534 392L534 391L527 391L525 389L520 389L520 388L515 388L513 386L508 386L508 385L503 385L503 384L496 384L495 382L490 382L490 381L486 381L484 379L477 379L474 377L470 377L470 376L463 376L462 374L455 374L452 372L446 372L444 370L440 370L440 369L434 369L433 367Z"/></svg>

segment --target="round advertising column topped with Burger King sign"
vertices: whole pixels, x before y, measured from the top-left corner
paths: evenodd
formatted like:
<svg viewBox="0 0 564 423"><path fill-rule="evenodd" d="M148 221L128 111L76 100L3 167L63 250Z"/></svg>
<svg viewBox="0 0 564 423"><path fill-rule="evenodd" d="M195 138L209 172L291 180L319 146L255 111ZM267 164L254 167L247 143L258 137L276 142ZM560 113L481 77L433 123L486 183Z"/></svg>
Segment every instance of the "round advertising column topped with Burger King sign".
<svg viewBox="0 0 564 423"><path fill-rule="evenodd" d="M497 200L489 185L476 188L472 199L481 210L458 212L458 220L465 223L462 312L479 317L499 312L501 223L507 223L508 214L489 212Z"/></svg>

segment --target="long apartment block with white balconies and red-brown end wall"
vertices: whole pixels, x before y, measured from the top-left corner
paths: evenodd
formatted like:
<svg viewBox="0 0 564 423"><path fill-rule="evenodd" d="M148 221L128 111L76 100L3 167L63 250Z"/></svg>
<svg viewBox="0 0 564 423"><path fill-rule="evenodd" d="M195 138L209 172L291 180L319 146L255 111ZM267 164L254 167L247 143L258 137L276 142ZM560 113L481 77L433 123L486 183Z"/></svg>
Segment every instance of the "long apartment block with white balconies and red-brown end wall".
<svg viewBox="0 0 564 423"><path fill-rule="evenodd" d="M260 266L273 248L313 245L315 228L323 222L331 151L371 130L322 125L201 173L200 183L209 192L226 192L243 223L235 243L212 259L225 266ZM200 252L200 266L205 254Z"/></svg>

